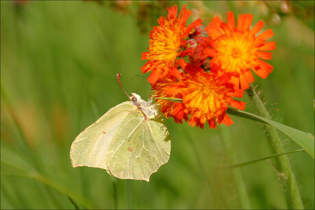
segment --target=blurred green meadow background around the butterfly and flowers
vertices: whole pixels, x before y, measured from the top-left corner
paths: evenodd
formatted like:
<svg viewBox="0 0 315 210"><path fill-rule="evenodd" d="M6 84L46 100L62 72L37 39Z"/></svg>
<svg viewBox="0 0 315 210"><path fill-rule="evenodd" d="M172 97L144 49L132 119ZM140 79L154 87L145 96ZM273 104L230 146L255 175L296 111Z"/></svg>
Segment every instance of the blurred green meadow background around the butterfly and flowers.
<svg viewBox="0 0 315 210"><path fill-rule="evenodd" d="M273 119L314 135L314 1L1 1L1 209L238 209L222 127L197 129L166 120L171 159L145 181L114 179L105 170L72 168L75 137L97 116L147 99L140 60L149 31L170 5L186 4L190 21L207 25L233 10L266 22L277 42L264 90ZM144 75L148 77L148 75ZM246 111L255 113L247 101ZM94 107L94 108L93 108ZM95 111L97 110L97 114ZM276 111L278 110L278 111ZM261 124L231 117L238 161L273 154ZM226 131L225 131L226 132ZM286 150L299 148L281 135ZM314 209L314 159L288 155L306 209ZM286 209L275 159L241 168L253 209ZM116 195L116 196L115 196Z"/></svg>

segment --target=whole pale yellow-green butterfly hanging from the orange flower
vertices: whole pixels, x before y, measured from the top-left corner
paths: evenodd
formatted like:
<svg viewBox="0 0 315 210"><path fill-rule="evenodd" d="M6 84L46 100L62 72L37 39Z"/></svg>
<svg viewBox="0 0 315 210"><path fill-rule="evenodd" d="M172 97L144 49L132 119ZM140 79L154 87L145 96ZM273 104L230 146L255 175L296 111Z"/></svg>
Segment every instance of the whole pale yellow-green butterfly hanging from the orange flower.
<svg viewBox="0 0 315 210"><path fill-rule="evenodd" d="M73 168L103 168L119 179L149 181L167 163L171 139L157 105L136 93L127 96L130 101L112 107L75 138L70 150Z"/></svg>

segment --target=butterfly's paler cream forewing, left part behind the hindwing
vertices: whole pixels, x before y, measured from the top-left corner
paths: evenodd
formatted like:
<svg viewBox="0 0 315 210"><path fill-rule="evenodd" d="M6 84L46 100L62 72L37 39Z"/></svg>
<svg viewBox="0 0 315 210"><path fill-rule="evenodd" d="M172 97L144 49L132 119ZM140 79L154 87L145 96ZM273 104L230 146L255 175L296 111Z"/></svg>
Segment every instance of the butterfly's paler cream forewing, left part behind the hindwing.
<svg viewBox="0 0 315 210"><path fill-rule="evenodd" d="M89 166L108 170L105 156L112 137L123 120L136 110L130 101L123 102L106 112L99 120L84 129L71 145L70 158L73 167Z"/></svg>

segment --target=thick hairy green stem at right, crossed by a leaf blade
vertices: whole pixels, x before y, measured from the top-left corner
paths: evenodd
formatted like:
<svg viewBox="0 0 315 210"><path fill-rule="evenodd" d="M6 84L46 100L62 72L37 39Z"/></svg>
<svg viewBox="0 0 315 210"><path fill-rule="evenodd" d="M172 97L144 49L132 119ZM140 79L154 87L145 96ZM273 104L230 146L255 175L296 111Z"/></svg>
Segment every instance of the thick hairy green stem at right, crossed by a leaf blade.
<svg viewBox="0 0 315 210"><path fill-rule="evenodd" d="M264 106L264 103L262 103L262 100L260 99L260 96L253 90L253 88L249 88L247 90L247 94L251 98L251 101L253 102L253 105L255 106L255 109L257 109L260 116L271 119L270 115ZM273 146L273 149L275 150L275 153L286 153L286 150L284 149L283 142L281 141L279 137L279 133L275 129L275 127L265 124L266 131L268 132L268 137L270 140L270 143ZM285 186L284 189L286 192L286 197L289 203L289 208L292 209L303 209L303 202L301 199L301 194L299 192L299 187L297 186L297 181L295 179L294 173L292 171L292 168L290 166L290 161L288 159L287 155L281 155L277 157L279 160L280 169L283 172L285 178Z"/></svg>

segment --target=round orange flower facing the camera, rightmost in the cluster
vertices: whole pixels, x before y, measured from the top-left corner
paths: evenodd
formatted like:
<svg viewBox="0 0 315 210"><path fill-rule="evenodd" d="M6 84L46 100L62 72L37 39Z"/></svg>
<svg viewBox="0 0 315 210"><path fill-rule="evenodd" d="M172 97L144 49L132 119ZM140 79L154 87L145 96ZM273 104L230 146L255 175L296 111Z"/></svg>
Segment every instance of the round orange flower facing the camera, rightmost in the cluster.
<svg viewBox="0 0 315 210"><path fill-rule="evenodd" d="M215 17L205 28L208 36L212 38L212 48L205 50L207 55L212 57L210 67L236 73L237 85L240 83L242 89L249 88L249 83L254 81L250 69L263 79L273 71L273 66L260 60L271 59L271 53L266 51L275 49L275 42L266 42L266 39L273 36L273 31L268 29L256 36L264 22L259 21L250 29L252 20L253 15L240 14L235 27L234 14L228 12L227 23Z"/></svg>

